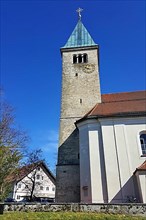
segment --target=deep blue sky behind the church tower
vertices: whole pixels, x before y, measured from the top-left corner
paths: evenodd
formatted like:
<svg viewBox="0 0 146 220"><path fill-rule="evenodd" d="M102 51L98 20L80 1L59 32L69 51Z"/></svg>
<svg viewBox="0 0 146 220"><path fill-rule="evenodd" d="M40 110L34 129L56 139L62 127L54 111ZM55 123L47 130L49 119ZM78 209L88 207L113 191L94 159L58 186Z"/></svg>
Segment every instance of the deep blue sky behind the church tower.
<svg viewBox="0 0 146 220"><path fill-rule="evenodd" d="M77 23L100 46L102 93L146 89L143 0L1 1L1 85L19 127L54 169L58 146L61 55Z"/></svg>

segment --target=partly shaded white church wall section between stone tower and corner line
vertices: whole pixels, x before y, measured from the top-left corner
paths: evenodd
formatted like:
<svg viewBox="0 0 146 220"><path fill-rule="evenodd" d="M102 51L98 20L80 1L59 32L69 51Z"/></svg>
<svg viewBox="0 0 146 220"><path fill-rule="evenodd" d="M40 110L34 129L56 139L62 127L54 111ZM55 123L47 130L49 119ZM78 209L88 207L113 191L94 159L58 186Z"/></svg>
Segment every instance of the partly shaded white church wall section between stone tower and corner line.
<svg viewBox="0 0 146 220"><path fill-rule="evenodd" d="M89 121L90 123L90 121ZM80 130L80 188L81 202L102 203L103 189L99 149L100 125L81 123ZM84 191L88 186L88 196Z"/></svg>

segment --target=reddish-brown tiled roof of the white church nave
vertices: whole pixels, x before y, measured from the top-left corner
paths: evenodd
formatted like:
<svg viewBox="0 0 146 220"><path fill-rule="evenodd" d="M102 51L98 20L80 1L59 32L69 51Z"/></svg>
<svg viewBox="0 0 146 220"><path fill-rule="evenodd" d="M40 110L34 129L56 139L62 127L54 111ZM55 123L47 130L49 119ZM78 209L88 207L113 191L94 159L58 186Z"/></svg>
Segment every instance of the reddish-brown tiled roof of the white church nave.
<svg viewBox="0 0 146 220"><path fill-rule="evenodd" d="M101 100L80 120L146 115L146 91L103 94Z"/></svg>

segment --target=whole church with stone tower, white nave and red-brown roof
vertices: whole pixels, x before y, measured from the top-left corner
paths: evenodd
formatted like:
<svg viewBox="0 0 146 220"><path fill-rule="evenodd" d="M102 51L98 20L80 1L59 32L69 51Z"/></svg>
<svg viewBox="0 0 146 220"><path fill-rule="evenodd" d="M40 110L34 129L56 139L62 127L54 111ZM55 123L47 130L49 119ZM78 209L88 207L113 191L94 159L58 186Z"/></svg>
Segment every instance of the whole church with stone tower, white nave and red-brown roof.
<svg viewBox="0 0 146 220"><path fill-rule="evenodd" d="M146 91L101 94L99 46L81 11L61 48L56 202L146 203Z"/></svg>

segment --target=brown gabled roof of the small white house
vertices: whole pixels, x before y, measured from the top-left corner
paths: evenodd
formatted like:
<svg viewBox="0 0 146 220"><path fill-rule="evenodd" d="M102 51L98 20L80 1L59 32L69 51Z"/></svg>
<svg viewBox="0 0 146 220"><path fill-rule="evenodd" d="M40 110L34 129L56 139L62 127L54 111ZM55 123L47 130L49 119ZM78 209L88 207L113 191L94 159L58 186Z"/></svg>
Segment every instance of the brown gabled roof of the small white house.
<svg viewBox="0 0 146 220"><path fill-rule="evenodd" d="M52 172L49 170L49 168L46 166L46 164L43 161L29 164L29 165L26 165L26 166L23 166L17 169L14 173L12 173L11 175L7 177L7 181L8 182L19 182L37 167L41 167L44 170L44 172L50 177L52 182L55 184L56 178L54 177Z"/></svg>

